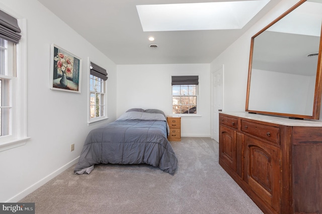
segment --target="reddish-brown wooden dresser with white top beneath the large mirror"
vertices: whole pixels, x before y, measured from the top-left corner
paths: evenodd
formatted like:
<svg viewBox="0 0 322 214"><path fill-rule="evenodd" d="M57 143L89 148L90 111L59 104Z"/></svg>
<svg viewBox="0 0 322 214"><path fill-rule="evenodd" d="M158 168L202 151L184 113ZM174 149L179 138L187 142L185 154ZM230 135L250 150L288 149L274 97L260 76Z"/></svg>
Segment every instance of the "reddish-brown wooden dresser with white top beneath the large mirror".
<svg viewBox="0 0 322 214"><path fill-rule="evenodd" d="M264 213L322 213L322 122L219 114L219 164Z"/></svg>

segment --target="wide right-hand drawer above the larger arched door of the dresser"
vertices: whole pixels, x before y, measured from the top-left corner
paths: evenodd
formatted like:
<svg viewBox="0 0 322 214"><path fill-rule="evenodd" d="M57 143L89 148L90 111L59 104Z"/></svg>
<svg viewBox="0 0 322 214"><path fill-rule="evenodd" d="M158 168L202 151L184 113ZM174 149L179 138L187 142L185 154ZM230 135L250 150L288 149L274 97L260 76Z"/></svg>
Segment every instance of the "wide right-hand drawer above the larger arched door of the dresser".
<svg viewBox="0 0 322 214"><path fill-rule="evenodd" d="M280 129L277 127L241 120L240 130L275 144L280 144Z"/></svg>

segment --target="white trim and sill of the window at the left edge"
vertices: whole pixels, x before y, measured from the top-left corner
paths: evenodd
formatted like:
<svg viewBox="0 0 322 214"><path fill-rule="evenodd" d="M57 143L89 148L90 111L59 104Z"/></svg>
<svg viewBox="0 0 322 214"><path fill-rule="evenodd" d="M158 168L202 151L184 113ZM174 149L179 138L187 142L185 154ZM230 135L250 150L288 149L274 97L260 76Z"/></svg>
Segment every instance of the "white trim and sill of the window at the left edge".
<svg viewBox="0 0 322 214"><path fill-rule="evenodd" d="M27 136L27 39L26 19L18 19L21 40L16 45L16 77L11 78L12 117L9 135L0 137L0 152L25 145Z"/></svg>

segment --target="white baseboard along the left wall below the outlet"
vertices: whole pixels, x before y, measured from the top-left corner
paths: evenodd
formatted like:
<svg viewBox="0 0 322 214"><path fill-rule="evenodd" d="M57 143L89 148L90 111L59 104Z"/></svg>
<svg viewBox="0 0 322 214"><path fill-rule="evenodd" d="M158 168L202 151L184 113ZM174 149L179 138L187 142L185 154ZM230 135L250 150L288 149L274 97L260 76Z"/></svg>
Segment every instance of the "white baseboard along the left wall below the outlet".
<svg viewBox="0 0 322 214"><path fill-rule="evenodd" d="M40 186L44 185L45 183L47 183L49 180L51 180L52 178L56 177L58 174L60 174L61 172L65 171L66 169L68 169L69 167L71 167L72 165L74 165L75 163L77 163L78 161L78 157L76 157L75 159L73 159L72 161L70 161L69 163L63 165L62 167L60 167L59 169L57 169L56 171L50 173L49 175L47 175L46 177L44 177L43 179L39 180L38 182L34 183L33 185L29 186L27 189L23 190L22 192L18 193L17 195L13 196L12 198L10 198L8 201L6 202L18 202L19 200L21 200L22 198L26 197L28 194L30 194L31 192L35 191L36 189L38 189Z"/></svg>

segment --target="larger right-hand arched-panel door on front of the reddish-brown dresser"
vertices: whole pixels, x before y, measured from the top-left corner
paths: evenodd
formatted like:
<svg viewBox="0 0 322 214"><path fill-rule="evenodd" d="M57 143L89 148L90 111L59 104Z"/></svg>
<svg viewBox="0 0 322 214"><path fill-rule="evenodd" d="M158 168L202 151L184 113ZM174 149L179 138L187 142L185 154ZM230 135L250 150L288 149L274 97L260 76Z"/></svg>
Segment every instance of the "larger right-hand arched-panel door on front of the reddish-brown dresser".
<svg viewBox="0 0 322 214"><path fill-rule="evenodd" d="M244 136L244 180L268 206L280 210L280 149Z"/></svg>

